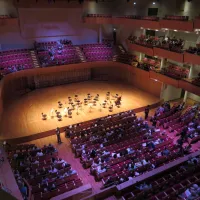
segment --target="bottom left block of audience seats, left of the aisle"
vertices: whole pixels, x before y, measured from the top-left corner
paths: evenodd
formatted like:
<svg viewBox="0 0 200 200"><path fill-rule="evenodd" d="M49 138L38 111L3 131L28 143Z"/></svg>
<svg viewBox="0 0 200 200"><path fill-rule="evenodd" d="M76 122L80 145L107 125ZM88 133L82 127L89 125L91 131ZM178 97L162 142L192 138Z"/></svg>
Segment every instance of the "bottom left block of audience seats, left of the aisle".
<svg viewBox="0 0 200 200"><path fill-rule="evenodd" d="M24 199L50 199L82 186L77 172L58 158L51 144L43 148L34 144L12 146L7 154Z"/></svg>

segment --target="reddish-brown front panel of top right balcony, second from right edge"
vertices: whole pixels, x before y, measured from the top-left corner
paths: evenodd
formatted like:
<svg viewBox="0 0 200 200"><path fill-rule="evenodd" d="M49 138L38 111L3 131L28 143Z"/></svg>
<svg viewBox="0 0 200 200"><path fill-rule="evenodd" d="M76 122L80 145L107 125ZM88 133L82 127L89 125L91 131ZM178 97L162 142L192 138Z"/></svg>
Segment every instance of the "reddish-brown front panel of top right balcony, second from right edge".
<svg viewBox="0 0 200 200"><path fill-rule="evenodd" d="M160 20L160 27L179 31L193 32L193 21L179 21L179 20Z"/></svg>

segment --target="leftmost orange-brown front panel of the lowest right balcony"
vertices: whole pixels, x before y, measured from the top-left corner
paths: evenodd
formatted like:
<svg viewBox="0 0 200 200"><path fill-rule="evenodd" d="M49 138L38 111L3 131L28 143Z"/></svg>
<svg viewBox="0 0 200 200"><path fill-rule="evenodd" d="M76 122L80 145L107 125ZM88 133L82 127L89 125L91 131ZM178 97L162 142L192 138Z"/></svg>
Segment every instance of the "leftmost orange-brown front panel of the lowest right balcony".
<svg viewBox="0 0 200 200"><path fill-rule="evenodd" d="M160 82L172 85L174 87L178 87L178 80L170 78L168 76L165 76L163 74L154 72L154 71L150 71L150 78L154 79L154 80L159 80Z"/></svg>

